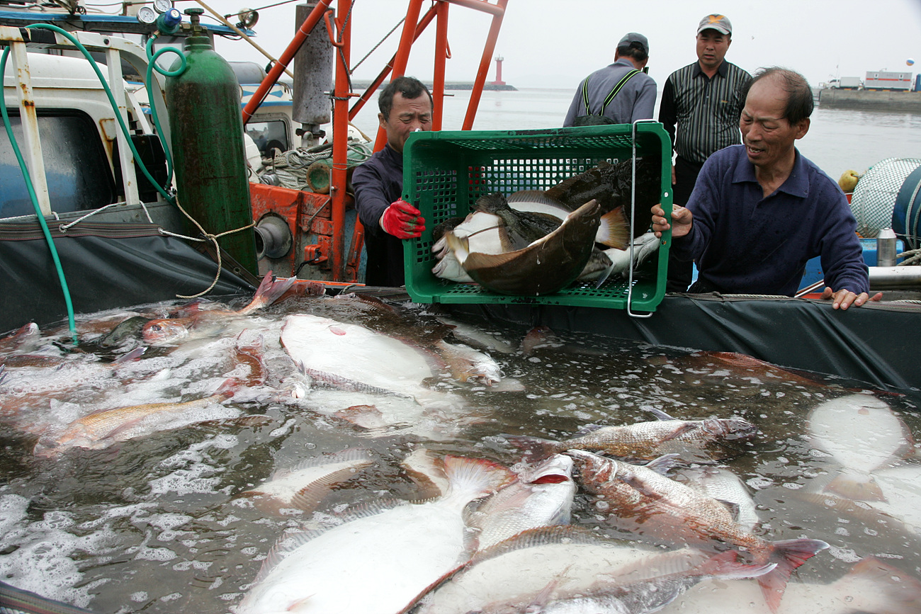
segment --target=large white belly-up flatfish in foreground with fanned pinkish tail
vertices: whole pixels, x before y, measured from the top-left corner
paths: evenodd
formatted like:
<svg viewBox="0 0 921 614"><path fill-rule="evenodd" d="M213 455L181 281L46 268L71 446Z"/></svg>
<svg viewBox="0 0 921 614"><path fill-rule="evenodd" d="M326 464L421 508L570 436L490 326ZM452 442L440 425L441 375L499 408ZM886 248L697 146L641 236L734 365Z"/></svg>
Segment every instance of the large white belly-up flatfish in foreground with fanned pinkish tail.
<svg viewBox="0 0 921 614"><path fill-rule="evenodd" d="M393 614L472 556L464 507L513 474L490 461L447 457L448 492L425 504L366 510L326 531L282 539L237 614Z"/></svg>

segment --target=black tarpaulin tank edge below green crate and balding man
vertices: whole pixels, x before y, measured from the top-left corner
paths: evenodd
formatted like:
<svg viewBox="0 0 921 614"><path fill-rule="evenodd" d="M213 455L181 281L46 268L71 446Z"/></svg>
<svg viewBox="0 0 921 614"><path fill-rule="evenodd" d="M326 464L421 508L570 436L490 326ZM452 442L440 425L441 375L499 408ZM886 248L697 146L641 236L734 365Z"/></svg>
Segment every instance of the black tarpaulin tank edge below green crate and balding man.
<svg viewBox="0 0 921 614"><path fill-rule="evenodd" d="M621 309L550 305L451 305L452 311L555 331L591 332L653 345L738 352L774 365L880 388L921 388L921 305L666 295L650 318Z"/></svg>

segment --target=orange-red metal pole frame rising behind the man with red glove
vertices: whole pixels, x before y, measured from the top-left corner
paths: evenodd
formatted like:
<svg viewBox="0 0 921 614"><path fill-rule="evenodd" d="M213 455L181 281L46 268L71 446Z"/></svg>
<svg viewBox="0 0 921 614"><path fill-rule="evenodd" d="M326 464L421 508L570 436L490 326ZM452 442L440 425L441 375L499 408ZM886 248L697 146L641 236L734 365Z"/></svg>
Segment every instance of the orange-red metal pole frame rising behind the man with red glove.
<svg viewBox="0 0 921 614"><path fill-rule="evenodd" d="M419 18L422 9L422 3L425 0L409 0L406 9L406 20L403 22L402 36L400 46L397 52L391 58L391 61L383 68L378 77L369 87L358 96L355 105L348 108L349 98L356 96L348 90L349 66L352 37L351 26L348 21L348 15L352 10L352 0L338 0L336 15L333 17L333 11L330 7L333 0L318 0L317 6L310 11L309 16L297 29L294 39L288 44L284 53L278 58L272 69L266 75L262 84L253 94L250 102L243 110L243 123L249 122L253 112L262 104L269 92L269 89L282 75L288 64L294 59L297 50L300 49L310 31L323 19L326 29L329 33L332 45L338 50L334 53L335 57L335 88L332 92L332 177L330 198L332 200L332 245L309 246L316 247L317 250L329 250L332 281L348 282L355 281L355 275L358 270L357 262L364 244L364 229L359 222L356 222L355 233L353 234L351 245L349 246L349 257L346 261L345 256L345 237L344 237L344 220L345 205L347 195L345 193L347 154L348 154L348 124L351 122L358 111L362 109L367 100L371 98L375 91L387 75L391 79L404 74L406 64L409 62L409 54L413 48L413 43L425 31L426 27L432 22L437 21L436 38L435 38L435 64L434 80L432 84L432 98L435 102L435 112L432 118L432 129L441 130L442 110L445 96L445 63L450 57L448 44L448 12L450 5L464 6L474 10L482 11L493 16L489 34L484 43L483 55L480 60L480 66L473 82L473 89L470 102L467 106L467 113L461 130L470 130L473 127L473 120L476 117L476 110L480 104L480 98L483 94L483 87L486 82L486 75L495 52L495 41L499 36L499 29L502 27L502 18L505 16L508 0L496 0L491 4L488 0L434 0L433 5L426 11L426 14ZM338 32L338 35L335 34ZM382 128L378 130L377 140L375 141L374 150L378 151L386 143L386 133ZM325 241L323 241L325 243ZM352 279L348 279L351 276Z"/></svg>

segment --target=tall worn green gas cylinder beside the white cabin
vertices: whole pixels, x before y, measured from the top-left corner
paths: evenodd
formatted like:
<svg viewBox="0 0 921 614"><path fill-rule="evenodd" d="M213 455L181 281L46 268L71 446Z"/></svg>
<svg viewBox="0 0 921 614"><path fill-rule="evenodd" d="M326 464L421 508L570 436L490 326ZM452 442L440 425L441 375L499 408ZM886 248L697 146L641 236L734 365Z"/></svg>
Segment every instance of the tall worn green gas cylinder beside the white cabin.
<svg viewBox="0 0 921 614"><path fill-rule="evenodd" d="M252 224L250 181L239 83L199 23L202 12L185 11L192 26L183 45L187 65L181 75L167 78L166 101L179 203L205 231L218 235ZM171 70L180 65L181 59ZM190 232L199 234L191 222ZM245 269L259 273L252 228L217 241Z"/></svg>

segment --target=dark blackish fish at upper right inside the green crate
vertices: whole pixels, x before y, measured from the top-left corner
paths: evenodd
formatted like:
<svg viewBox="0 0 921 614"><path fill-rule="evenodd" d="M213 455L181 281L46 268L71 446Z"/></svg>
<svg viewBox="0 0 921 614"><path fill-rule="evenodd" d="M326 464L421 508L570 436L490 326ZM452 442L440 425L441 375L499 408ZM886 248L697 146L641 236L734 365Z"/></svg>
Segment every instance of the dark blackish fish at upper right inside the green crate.
<svg viewBox="0 0 921 614"><path fill-rule="evenodd" d="M662 200L661 182L659 160L637 157L634 238L645 234L652 223L652 205ZM556 184L545 193L570 207L591 199L596 199L605 212L622 207L624 218L629 223L632 185L633 159L630 158L616 164L601 162L595 168Z"/></svg>

